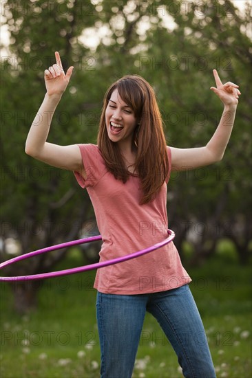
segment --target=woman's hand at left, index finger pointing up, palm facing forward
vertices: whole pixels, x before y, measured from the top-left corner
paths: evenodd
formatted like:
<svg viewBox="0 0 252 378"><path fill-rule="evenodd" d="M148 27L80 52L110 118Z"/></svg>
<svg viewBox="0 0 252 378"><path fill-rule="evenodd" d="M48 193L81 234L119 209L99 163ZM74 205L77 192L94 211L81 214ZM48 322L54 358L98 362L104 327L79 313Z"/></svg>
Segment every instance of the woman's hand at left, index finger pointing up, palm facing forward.
<svg viewBox="0 0 252 378"><path fill-rule="evenodd" d="M55 58L56 64L52 65L52 67L49 67L48 69L45 69L45 87L49 96L61 96L63 94L74 69L73 66L69 67L69 69L67 69L67 73L65 74L59 52L55 52Z"/></svg>

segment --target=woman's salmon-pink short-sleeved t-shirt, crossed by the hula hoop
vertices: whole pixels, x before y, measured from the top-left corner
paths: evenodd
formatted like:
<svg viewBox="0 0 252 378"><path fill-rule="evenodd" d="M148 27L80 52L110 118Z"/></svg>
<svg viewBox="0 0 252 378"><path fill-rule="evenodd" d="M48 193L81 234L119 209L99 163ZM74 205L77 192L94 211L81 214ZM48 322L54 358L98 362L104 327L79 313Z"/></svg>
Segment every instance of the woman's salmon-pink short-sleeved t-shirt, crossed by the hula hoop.
<svg viewBox="0 0 252 378"><path fill-rule="evenodd" d="M94 144L80 144L87 179L74 173L78 184L87 188L98 229L103 238L100 261L132 254L167 237L167 177L160 192L150 203L139 205L140 179L114 178L101 151ZM171 166L171 153L167 147ZM94 287L102 293L143 294L174 289L191 278L182 267L173 242L144 256L97 269Z"/></svg>

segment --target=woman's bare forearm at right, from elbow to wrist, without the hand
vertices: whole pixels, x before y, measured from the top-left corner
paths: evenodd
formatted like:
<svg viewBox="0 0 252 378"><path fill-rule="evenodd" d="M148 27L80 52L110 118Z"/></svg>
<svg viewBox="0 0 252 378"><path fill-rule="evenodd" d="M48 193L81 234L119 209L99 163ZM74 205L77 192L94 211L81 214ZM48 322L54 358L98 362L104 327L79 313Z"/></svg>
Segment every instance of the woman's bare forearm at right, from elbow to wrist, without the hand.
<svg viewBox="0 0 252 378"><path fill-rule="evenodd" d="M224 107L216 132L206 146L207 151L211 154L213 162L218 162L224 155L233 129L235 112L235 105L227 105Z"/></svg>

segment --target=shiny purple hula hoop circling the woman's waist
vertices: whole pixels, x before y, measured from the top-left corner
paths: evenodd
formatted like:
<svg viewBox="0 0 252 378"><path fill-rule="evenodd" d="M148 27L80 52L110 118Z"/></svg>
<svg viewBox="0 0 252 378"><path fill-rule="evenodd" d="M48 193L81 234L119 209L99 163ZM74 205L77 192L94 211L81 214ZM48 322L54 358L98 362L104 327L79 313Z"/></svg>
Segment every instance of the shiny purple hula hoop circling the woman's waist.
<svg viewBox="0 0 252 378"><path fill-rule="evenodd" d="M152 252L155 249L158 249L158 248L163 247L164 245L170 243L172 240L174 240L175 233L172 230L168 230L168 234L169 234L169 236L167 238L165 238L164 241L161 241L160 243L156 243L154 245L151 245L151 247L141 249L140 251L134 252L133 254L127 254L126 256L121 256L121 257L118 257L118 258L112 258L112 260L102 261L101 263L95 263L95 264L90 264L90 265L84 265L83 267L76 267L76 268L72 268L72 269L51 271L49 273L31 274L30 276L0 277L0 281L42 280L44 278L66 276L68 274L76 274L76 273L80 273L81 271L88 271L88 270L92 270L92 269L107 267L108 265L114 265L114 264L122 263L123 261L131 260L132 258L136 258L136 257L139 257L139 256L143 256L144 254L148 254L149 252ZM66 243L61 243L61 244L57 244L57 245L52 245L51 247L38 249L36 251L11 258L10 260L7 260L4 263L1 263L0 269L2 269L3 267L6 267L8 265L11 265L13 263L17 263L17 261L25 260L26 258L30 258L32 256L43 254L45 252L51 252L51 251L55 251L56 249L62 249L62 248L65 248L65 247L72 247L73 245L90 243L92 241L98 241L98 240L101 240L101 235L92 236L90 238L78 239L78 240L75 240L75 241L68 241Z"/></svg>

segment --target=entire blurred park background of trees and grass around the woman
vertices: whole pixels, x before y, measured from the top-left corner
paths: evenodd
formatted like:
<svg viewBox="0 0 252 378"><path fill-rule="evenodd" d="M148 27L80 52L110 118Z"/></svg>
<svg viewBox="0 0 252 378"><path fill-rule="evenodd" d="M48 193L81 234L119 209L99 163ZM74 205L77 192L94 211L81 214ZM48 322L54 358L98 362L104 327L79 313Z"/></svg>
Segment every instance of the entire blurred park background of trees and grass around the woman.
<svg viewBox="0 0 252 378"><path fill-rule="evenodd" d="M223 340L229 352L233 351L235 342L249 343L251 333L246 326L251 311L252 247L251 1L6 0L1 1L1 22L1 261L99 233L92 203L74 175L45 166L24 153L30 125L45 96L43 71L54 63L55 51L61 54L65 70L74 65L70 84L52 121L48 140L56 144L95 144L107 87L125 74L138 74L156 91L167 144L180 148L202 146L215 131L222 114L220 100L209 89L215 86L213 69L218 70L223 82L230 80L240 85L242 96L235 126L222 162L173 173L168 185L167 211L169 227L176 232L175 243L182 263L195 278L194 294L199 296L199 307L202 306L209 329L212 320L209 316L217 316L211 311L213 308L219 311L221 321L220 318L218 321L222 325L218 331L209 331L215 335L214 348L220 347ZM97 243L41 255L6 267L3 274L39 274L59 267L92 263L98 260L99 247ZM95 313L92 312L94 272L80 276L80 280L76 277L2 283L1 377L98 377L98 357L92 357L94 351L98 355ZM80 307L83 292L87 302ZM202 293L206 295L204 298ZM75 298L74 303L71 298ZM15 331L14 324L19 320L27 327L31 325L31 318L35 318L34 332L46 335L48 324L45 331L41 331L42 319L53 316L55 311L55 324L60 318L63 324L64 321L69 324L74 314L79 318L80 311L87 311L85 305L89 300L91 323L85 326L90 338L85 333L85 341L94 337L96 342L86 344L81 338L80 344L83 333L78 330L72 331L77 335L75 344L71 344L71 338L68 344L64 344L65 339L55 339L57 348L52 355L67 346L72 357L67 360L53 355L52 361L62 359L63 362L55 365L54 361L52 370L43 370L51 366L48 350L53 342L49 345L48 338L42 337L42 342L36 343L34 336L32 343L20 331L24 325L19 324L20 330ZM221 303L225 303L224 308ZM70 308L74 308L74 314ZM62 314L67 312L64 318ZM244 325L237 325L236 312ZM151 320L147 322L147 329L154 329ZM222 328L227 323L229 327ZM68 326L65 327L65 331L58 334L52 331L53 335L59 332L71 335ZM15 333L19 331L21 335ZM158 331L148 332L153 335ZM15 335L20 337L16 340ZM235 335L240 335L240 340L236 340ZM148 342L153 342L149 337ZM46 352L41 349L43 342ZM92 348L82 350L83 343ZM251 376L251 344L246 345L248 354L245 358L241 352L242 361L242 356L233 351L230 361L223 362L224 349L216 350L221 377ZM26 352L21 353L19 347L26 348ZM244 351L244 344L237 347ZM160 348L164 350L162 345ZM23 375L15 375L10 363L15 356L19 358L19 352L23 356L20 357ZM31 353L34 355L29 359ZM87 357L87 353L91 355ZM139 359L142 361L139 366L146 368L149 359L145 345L140 345L140 353L143 358ZM160 351L157 359L158 356ZM147 372L136 365L135 377L181 377L176 358L172 358L174 368L171 370L164 370L162 364L166 362L162 361L157 366L151 365L153 372L151 368ZM79 365L73 370L71 364L75 359ZM44 360L48 363L44 364ZM65 369L64 373L57 375L59 371L55 366Z"/></svg>

